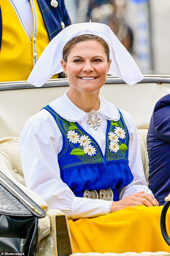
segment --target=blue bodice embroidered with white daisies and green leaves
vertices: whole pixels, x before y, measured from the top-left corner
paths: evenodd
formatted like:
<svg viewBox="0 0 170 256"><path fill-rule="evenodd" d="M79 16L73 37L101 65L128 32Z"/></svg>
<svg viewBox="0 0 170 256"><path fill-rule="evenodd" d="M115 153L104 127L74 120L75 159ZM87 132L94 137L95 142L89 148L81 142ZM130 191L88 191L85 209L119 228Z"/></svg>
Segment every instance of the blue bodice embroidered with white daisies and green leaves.
<svg viewBox="0 0 170 256"><path fill-rule="evenodd" d="M128 165L129 133L121 113L118 121L108 120L103 155L97 141L77 122L63 119L49 105L43 109L53 116L62 134L63 145L58 153L62 181L77 197L83 197L86 189L98 191L110 188L114 194L113 201L118 201L119 189L130 184L134 178ZM118 137L116 132L119 135L119 130L122 136ZM113 138L117 138L116 143ZM84 146L83 141L86 143Z"/></svg>

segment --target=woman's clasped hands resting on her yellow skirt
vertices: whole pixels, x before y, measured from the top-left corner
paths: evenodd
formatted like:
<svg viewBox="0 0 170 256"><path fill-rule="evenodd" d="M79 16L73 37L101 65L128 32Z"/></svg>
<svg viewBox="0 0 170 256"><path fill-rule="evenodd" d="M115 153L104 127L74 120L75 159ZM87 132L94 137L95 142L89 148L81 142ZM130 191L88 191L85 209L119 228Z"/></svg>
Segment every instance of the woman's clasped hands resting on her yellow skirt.
<svg viewBox="0 0 170 256"><path fill-rule="evenodd" d="M153 197L153 195L149 195L145 193L145 191L140 191L132 195L128 195L120 201L115 201L112 203L112 208L110 212L116 212L125 207L135 207L136 205L144 205L146 207L149 206L158 206L158 201Z"/></svg>

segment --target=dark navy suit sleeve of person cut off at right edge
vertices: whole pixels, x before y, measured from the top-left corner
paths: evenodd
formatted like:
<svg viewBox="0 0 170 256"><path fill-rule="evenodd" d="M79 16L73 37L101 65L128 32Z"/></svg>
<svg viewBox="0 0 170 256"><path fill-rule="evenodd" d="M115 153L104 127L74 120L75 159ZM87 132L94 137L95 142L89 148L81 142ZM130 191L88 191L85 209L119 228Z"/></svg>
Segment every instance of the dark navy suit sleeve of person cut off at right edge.
<svg viewBox="0 0 170 256"><path fill-rule="evenodd" d="M170 193L170 94L155 105L147 134L149 189L160 205Z"/></svg>

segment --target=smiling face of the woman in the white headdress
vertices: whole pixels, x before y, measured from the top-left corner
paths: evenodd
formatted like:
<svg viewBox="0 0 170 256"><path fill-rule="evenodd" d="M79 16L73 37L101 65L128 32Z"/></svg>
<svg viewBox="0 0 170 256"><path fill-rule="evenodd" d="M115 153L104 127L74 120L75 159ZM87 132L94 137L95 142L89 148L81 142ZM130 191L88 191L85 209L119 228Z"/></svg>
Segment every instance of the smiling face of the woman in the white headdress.
<svg viewBox="0 0 170 256"><path fill-rule="evenodd" d="M111 60L103 46L96 41L83 41L75 44L67 62L61 60L67 73L71 92L96 93L105 84Z"/></svg>

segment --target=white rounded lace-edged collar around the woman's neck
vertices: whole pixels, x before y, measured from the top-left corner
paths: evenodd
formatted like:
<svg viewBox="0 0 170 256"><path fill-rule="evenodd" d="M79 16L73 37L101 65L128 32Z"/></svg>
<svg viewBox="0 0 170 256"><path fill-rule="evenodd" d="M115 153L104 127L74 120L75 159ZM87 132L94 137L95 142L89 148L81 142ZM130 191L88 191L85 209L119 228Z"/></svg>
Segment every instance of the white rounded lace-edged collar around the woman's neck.
<svg viewBox="0 0 170 256"><path fill-rule="evenodd" d="M105 119L114 121L119 120L120 113L117 107L101 96L99 96L99 99L100 107L97 112L104 116ZM57 112L58 115L69 122L80 122L87 114L82 109L79 109L74 105L66 93L52 101L49 105Z"/></svg>

